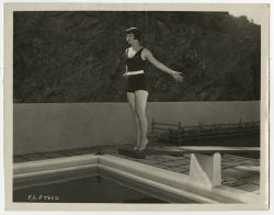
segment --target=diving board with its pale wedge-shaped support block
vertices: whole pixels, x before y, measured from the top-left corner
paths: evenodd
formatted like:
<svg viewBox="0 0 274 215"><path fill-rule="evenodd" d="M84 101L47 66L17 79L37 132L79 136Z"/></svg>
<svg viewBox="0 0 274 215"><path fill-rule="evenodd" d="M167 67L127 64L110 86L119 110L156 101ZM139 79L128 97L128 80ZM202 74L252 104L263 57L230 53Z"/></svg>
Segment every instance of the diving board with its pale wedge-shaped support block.
<svg viewBox="0 0 274 215"><path fill-rule="evenodd" d="M190 177L208 188L221 185L221 155L260 152L260 147L222 147L222 146L157 146L150 145L144 151L129 147L121 148L121 155L145 159L149 155L191 154Z"/></svg>

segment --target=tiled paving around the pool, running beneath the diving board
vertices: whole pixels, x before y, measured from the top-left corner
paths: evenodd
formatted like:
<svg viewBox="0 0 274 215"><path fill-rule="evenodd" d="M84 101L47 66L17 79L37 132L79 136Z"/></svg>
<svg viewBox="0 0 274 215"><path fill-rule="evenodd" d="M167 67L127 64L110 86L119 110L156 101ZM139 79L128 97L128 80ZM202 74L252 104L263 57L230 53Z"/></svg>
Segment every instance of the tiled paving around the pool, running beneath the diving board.
<svg viewBox="0 0 274 215"><path fill-rule="evenodd" d="M153 166L170 171L190 174L191 155L147 155L145 159L127 157L118 154L118 149L126 146L103 146L78 148L59 151L36 152L27 155L19 155L13 157L13 162L26 162L34 160L45 160L53 158L71 157L87 154L109 154L112 156L122 157L133 161ZM259 194L260 192L260 158L243 157L239 155L222 155L221 156L221 184L239 189L246 192Z"/></svg>

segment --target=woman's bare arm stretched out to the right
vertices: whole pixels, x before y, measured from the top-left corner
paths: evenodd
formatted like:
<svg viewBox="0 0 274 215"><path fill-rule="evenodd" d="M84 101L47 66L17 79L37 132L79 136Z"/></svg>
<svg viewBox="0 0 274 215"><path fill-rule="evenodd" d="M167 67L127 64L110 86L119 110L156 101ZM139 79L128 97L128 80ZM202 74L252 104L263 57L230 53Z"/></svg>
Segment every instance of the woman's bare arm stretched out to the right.
<svg viewBox="0 0 274 215"><path fill-rule="evenodd" d="M183 81L183 77L181 75L182 72L174 71L162 63L158 61L149 49L144 48L144 57L148 59L152 65L155 65L158 69L171 75L176 81Z"/></svg>

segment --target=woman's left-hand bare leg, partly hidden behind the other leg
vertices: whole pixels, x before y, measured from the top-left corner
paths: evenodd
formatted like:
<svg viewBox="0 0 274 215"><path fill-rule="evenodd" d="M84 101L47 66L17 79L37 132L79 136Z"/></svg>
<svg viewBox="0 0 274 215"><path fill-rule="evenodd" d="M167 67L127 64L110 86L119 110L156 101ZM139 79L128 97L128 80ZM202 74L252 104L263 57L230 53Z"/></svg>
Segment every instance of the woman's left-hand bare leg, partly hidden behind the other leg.
<svg viewBox="0 0 274 215"><path fill-rule="evenodd" d="M137 112L136 112L136 105L135 105L135 100L136 100L135 99L135 93L134 92L127 92L127 100L129 102L129 105L130 105L130 109L132 109L132 112L133 112L133 115L134 115L135 126L136 126L136 146L134 148L138 149L139 145L140 145L141 135L140 135L140 123L139 123L139 120L138 120L138 115L137 115Z"/></svg>

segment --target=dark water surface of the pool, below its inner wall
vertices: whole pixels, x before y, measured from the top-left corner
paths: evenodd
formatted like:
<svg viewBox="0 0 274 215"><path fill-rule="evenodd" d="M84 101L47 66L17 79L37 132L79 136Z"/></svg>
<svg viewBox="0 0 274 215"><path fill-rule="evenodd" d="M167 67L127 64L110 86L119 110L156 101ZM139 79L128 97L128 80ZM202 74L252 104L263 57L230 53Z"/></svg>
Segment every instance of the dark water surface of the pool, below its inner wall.
<svg viewBox="0 0 274 215"><path fill-rule="evenodd" d="M84 177L14 190L13 202L168 203L103 176Z"/></svg>

